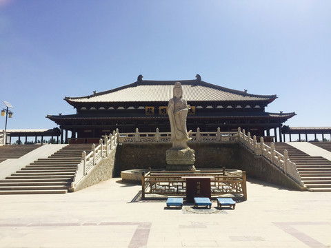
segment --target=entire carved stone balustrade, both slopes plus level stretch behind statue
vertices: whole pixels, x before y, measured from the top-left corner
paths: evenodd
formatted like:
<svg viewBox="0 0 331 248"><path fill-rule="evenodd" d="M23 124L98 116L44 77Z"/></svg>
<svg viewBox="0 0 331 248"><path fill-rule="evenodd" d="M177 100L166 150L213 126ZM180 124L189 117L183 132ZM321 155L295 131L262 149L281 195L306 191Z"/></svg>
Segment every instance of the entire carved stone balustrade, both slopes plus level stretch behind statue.
<svg viewBox="0 0 331 248"><path fill-rule="evenodd" d="M170 138L170 132L159 132L159 129L157 129L156 132L139 132L139 130L136 129L134 133L121 134L119 134L117 130L109 136L103 136L103 139L100 139L100 143L97 147L92 145L92 151L89 154L83 152L81 163L77 166L77 172L74 176L72 187L77 185L79 180L81 180L83 176L86 176L90 169L97 165L102 158L107 157L118 143L169 143ZM252 138L250 132L246 135L245 130L241 132L240 127L237 132L221 132L220 128L217 129L217 132L200 132L198 128L197 132L192 132L190 138L191 140L189 142L239 142L250 149L254 155L262 156L270 161L272 165L280 169L299 185L303 186L297 165L290 161L286 150L284 154L281 154L274 149L274 143L271 143L270 146L266 145L263 141L263 137L261 137L258 142L256 136Z"/></svg>

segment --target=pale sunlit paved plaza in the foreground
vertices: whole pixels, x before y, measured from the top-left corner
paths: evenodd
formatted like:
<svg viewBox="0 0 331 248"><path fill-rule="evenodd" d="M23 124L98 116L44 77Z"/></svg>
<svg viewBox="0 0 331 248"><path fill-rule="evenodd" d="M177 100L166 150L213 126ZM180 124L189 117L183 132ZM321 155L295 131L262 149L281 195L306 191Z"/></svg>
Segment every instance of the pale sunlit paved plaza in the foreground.
<svg viewBox="0 0 331 248"><path fill-rule="evenodd" d="M139 200L112 178L70 194L0 196L0 247L331 247L331 194L248 178L248 200L212 213Z"/></svg>

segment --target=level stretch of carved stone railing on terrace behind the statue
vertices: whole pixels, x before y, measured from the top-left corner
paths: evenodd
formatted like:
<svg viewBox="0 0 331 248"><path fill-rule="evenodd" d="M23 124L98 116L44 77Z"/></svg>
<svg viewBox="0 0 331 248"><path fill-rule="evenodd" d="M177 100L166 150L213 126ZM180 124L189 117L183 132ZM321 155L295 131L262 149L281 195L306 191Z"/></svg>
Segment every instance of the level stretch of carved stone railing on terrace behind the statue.
<svg viewBox="0 0 331 248"><path fill-rule="evenodd" d="M168 143L170 142L170 132L139 132L138 128L134 133L119 134L119 143ZM238 141L238 132L221 132L220 128L217 132L200 132L199 127L197 132L192 132L191 140L188 142L230 142Z"/></svg>

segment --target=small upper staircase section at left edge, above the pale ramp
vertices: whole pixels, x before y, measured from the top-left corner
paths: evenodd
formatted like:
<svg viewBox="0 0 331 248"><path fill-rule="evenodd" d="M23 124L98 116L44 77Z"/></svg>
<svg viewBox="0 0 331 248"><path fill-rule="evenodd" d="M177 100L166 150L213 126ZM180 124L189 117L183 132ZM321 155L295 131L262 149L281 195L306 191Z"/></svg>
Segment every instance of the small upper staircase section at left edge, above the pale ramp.
<svg viewBox="0 0 331 248"><path fill-rule="evenodd" d="M39 147L41 145L2 145L0 146L0 163L10 158L21 158Z"/></svg>

